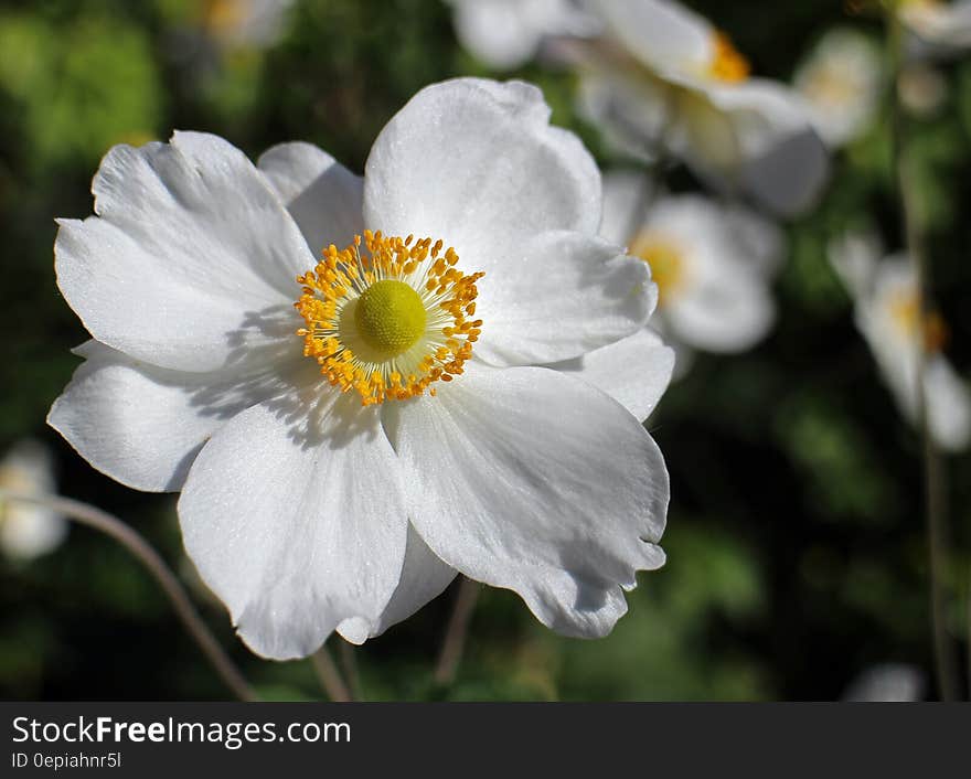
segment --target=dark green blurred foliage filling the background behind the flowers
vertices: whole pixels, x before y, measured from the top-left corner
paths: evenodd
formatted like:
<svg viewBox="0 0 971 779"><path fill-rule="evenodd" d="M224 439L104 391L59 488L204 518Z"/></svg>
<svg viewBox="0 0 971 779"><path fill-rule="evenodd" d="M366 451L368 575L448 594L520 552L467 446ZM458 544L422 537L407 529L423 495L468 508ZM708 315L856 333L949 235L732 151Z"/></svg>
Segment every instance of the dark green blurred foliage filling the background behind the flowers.
<svg viewBox="0 0 971 779"><path fill-rule="evenodd" d="M845 17L837 0L691 3L762 74L788 79ZM945 107L920 122L920 198L931 216L936 292L950 356L971 366L971 64L947 66ZM455 42L438 0L307 0L265 50L225 49L189 0L0 4L0 450L50 444L64 494L129 520L193 587L203 613L267 697L320 697L307 662L267 663L233 637L182 552L171 495L94 471L44 425L85 340L53 273L54 216L90 212L89 180L116 142L173 128L216 132L255 158L305 139L361 171L385 121L419 87L489 75ZM573 111L573 77L530 65L554 121L605 164ZM930 677L919 444L901 421L851 302L824 255L851 224L901 227L888 122L836 158L820 209L788 225L770 338L737 358L700 355L649 420L672 476L669 563L644 574L630 612L599 641L562 639L511 593L483 589L456 685L431 666L454 590L356 651L367 698L834 698L866 666L916 664ZM674 186L691 188L680 171ZM954 542L971 545L971 462L948 463ZM594 467L591 465L591 467ZM971 559L950 572L967 591ZM960 636L964 608L954 601ZM929 694L932 687L928 685ZM110 541L72 529L30 564L0 562L4 698L220 698L226 695L145 573Z"/></svg>

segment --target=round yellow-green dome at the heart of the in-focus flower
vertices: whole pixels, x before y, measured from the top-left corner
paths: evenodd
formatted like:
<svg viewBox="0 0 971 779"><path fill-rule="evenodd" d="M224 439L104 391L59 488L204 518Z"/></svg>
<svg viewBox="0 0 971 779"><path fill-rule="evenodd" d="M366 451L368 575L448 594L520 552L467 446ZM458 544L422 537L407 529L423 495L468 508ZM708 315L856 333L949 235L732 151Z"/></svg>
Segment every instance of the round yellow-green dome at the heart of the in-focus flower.
<svg viewBox="0 0 971 779"><path fill-rule="evenodd" d="M388 358L410 349L425 332L427 319L418 292L396 279L375 281L354 306L361 338Z"/></svg>

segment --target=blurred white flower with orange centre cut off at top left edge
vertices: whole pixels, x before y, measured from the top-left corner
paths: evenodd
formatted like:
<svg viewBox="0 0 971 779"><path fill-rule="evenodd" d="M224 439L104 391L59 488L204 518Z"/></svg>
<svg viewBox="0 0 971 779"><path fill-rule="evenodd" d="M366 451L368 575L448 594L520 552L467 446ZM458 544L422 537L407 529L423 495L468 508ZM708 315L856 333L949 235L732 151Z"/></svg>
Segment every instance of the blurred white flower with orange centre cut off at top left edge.
<svg viewBox="0 0 971 779"><path fill-rule="evenodd" d="M266 49L279 39L294 0L204 0L201 24L223 49Z"/></svg>

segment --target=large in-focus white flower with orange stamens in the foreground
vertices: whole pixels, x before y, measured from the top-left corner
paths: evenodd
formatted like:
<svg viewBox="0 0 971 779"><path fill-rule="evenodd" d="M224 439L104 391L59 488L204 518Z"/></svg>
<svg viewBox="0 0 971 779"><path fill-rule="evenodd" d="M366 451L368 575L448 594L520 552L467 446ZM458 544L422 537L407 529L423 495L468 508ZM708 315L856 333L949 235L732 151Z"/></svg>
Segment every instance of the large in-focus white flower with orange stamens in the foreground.
<svg viewBox="0 0 971 779"><path fill-rule="evenodd" d="M97 216L61 221L95 340L50 423L182 491L186 551L256 652L362 642L457 570L602 636L663 563L668 474L631 414L670 376L641 332L657 288L596 237L599 173L548 117L526 84L430 86L363 179L307 143L257 168L177 132L109 151Z"/></svg>

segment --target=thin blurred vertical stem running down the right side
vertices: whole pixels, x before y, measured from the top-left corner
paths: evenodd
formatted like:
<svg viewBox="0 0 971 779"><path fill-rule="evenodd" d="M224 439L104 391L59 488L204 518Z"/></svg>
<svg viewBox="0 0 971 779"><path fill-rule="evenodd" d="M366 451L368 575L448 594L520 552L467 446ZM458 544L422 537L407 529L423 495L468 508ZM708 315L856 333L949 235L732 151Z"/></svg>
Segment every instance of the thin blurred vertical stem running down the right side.
<svg viewBox="0 0 971 779"><path fill-rule="evenodd" d="M893 151L896 166L897 186L899 189L900 210L904 217L904 231L907 254L914 268L917 291L919 321L927 321L930 312L930 263L925 244L924 226L920 218L919 204L914 201L916 181L913 159L908 154L906 118L901 110L898 96L899 75L904 61L904 30L895 12L889 10L889 44L894 64L893 81ZM928 398L926 388L927 344L918 338L917 348L917 425L922 442L924 462L924 511L927 525L927 551L929 566L930 620L933 636L933 658L937 671L938 694L943 701L958 698L958 670L954 649L947 630L947 594L943 574L948 562L947 540L947 485L940 455L928 424Z"/></svg>

